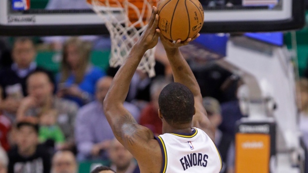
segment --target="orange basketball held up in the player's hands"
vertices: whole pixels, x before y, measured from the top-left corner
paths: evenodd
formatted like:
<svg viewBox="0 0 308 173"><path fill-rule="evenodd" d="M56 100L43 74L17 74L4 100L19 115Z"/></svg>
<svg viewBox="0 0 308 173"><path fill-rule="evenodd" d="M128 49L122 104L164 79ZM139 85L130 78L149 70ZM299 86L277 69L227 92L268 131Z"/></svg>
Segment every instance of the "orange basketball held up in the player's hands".
<svg viewBox="0 0 308 173"><path fill-rule="evenodd" d="M203 7L199 0L160 0L158 28L170 40L193 38L202 28Z"/></svg>

